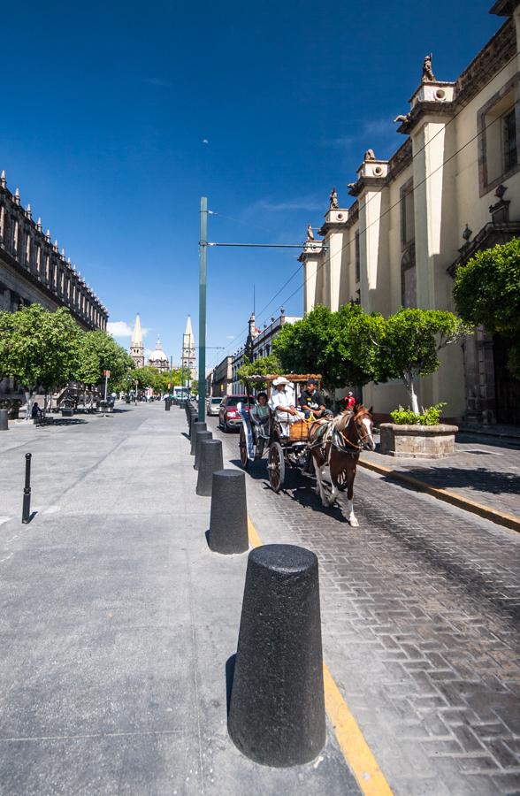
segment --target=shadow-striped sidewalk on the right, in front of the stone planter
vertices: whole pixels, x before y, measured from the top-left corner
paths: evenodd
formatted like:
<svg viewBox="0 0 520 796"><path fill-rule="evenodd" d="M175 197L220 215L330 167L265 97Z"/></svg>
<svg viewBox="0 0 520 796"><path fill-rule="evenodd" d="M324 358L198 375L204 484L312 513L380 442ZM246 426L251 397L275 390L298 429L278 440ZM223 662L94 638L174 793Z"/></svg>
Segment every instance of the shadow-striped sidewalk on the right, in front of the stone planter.
<svg viewBox="0 0 520 796"><path fill-rule="evenodd" d="M520 449L492 437L459 435L446 459L401 459L364 451L362 462L406 473L520 520Z"/></svg>

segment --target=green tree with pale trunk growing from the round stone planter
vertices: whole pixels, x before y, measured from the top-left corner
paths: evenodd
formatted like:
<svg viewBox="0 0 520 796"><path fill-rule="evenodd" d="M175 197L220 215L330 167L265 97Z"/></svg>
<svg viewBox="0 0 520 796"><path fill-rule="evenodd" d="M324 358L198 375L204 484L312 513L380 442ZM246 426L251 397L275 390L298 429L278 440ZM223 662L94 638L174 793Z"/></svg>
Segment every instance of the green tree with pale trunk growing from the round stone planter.
<svg viewBox="0 0 520 796"><path fill-rule="evenodd" d="M461 340L467 327L452 312L412 309L399 310L386 320L372 317L369 324L379 354L379 374L385 379L401 379L410 407L418 415L416 379L439 370L440 349Z"/></svg>

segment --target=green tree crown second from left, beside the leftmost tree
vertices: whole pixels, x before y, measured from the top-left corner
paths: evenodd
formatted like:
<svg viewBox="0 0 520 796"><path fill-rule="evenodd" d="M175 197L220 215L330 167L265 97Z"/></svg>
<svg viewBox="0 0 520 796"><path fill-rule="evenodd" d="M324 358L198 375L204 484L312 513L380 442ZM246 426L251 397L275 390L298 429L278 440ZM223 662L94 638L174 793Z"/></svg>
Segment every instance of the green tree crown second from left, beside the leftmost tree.
<svg viewBox="0 0 520 796"><path fill-rule="evenodd" d="M105 332L83 332L80 336L80 358L74 378L84 384L103 381L103 371L111 371L111 390L124 389L126 376L134 369L134 360L126 349Z"/></svg>

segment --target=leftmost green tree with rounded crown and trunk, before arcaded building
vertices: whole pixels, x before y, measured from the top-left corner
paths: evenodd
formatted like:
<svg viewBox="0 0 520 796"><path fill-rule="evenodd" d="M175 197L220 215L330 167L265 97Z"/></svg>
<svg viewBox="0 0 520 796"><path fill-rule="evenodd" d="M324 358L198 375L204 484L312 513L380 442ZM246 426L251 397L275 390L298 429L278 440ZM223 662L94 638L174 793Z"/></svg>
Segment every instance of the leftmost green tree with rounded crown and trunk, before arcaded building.
<svg viewBox="0 0 520 796"><path fill-rule="evenodd" d="M0 312L0 375L18 379L27 398L27 417L35 391L45 394L74 379L80 361L80 327L68 310L31 304Z"/></svg>

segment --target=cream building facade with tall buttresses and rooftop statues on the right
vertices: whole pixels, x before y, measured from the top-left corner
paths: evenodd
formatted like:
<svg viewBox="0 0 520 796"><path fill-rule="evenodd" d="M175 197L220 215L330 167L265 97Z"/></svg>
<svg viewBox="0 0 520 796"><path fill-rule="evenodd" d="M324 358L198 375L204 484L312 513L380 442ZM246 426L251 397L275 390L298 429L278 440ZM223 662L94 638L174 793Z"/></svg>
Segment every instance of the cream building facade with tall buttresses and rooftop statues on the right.
<svg viewBox="0 0 520 796"><path fill-rule="evenodd" d="M400 307L455 311L457 265L520 234L520 7L499 0L491 12L505 17L491 41L453 82L424 68L396 119L401 147L389 160L367 150L348 186L355 201L331 202L323 240L305 244L306 312L349 301L385 316ZM440 371L422 379L420 403L447 402L447 417L520 423L507 345L477 332L444 349ZM408 398L401 383L369 384L363 402L384 417Z"/></svg>

